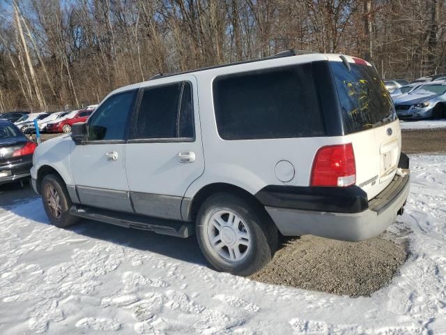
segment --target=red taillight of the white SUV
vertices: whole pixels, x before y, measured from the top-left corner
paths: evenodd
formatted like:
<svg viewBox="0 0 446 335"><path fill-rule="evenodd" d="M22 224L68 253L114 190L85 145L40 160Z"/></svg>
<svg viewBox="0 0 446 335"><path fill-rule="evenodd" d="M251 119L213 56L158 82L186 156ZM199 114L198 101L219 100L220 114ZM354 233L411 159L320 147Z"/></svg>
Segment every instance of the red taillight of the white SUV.
<svg viewBox="0 0 446 335"><path fill-rule="evenodd" d="M311 186L350 186L356 182L355 153L351 143L318 149Z"/></svg>

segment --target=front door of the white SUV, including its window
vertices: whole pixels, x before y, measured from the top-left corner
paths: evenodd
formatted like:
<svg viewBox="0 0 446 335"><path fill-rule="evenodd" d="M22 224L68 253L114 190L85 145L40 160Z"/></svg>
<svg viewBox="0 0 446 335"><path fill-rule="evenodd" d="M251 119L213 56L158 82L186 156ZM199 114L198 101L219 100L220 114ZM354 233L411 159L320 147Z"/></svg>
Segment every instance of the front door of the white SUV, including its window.
<svg viewBox="0 0 446 335"><path fill-rule="evenodd" d="M70 164L82 204L132 212L125 178L125 137L137 91L114 94L89 119L86 144L73 145Z"/></svg>

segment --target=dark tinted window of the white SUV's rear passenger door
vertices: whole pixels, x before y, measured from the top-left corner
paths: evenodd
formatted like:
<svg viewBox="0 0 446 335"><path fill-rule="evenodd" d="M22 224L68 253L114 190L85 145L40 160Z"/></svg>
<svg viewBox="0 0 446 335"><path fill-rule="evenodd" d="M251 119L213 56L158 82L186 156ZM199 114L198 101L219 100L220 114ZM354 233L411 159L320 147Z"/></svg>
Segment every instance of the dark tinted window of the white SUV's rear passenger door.
<svg viewBox="0 0 446 335"><path fill-rule="evenodd" d="M192 138L194 113L189 82L144 89L135 138Z"/></svg>

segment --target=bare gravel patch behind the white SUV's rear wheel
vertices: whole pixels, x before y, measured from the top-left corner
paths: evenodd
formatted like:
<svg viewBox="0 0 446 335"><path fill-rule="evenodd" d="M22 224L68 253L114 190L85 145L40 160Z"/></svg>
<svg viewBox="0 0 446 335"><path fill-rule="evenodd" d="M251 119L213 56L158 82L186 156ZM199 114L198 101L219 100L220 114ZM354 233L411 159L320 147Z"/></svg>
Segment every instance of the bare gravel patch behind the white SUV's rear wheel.
<svg viewBox="0 0 446 335"><path fill-rule="evenodd" d="M406 239L385 232L360 242L312 235L282 239L272 262L251 278L262 283L350 297L386 286L408 256Z"/></svg>

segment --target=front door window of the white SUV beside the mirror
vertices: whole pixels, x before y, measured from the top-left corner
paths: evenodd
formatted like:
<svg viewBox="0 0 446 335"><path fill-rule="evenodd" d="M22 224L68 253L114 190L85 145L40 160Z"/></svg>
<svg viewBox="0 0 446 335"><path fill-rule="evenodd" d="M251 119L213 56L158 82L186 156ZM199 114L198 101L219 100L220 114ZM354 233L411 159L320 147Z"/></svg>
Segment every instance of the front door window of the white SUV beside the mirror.
<svg viewBox="0 0 446 335"><path fill-rule="evenodd" d="M123 140L135 95L136 91L115 94L102 103L89 119L89 140Z"/></svg>

